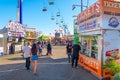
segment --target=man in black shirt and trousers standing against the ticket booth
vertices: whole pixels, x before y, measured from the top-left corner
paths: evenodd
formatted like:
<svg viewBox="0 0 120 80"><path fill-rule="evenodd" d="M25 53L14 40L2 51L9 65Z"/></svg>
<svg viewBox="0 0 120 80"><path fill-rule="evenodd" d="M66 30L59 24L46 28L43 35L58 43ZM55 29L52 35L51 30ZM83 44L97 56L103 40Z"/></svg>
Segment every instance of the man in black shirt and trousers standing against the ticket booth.
<svg viewBox="0 0 120 80"><path fill-rule="evenodd" d="M77 68L78 66L78 58L79 58L79 53L80 53L80 50L81 50L81 47L80 47L80 42L78 42L78 44L75 44L72 48L72 67L74 65L74 60L76 61L75 62L75 68Z"/></svg>

